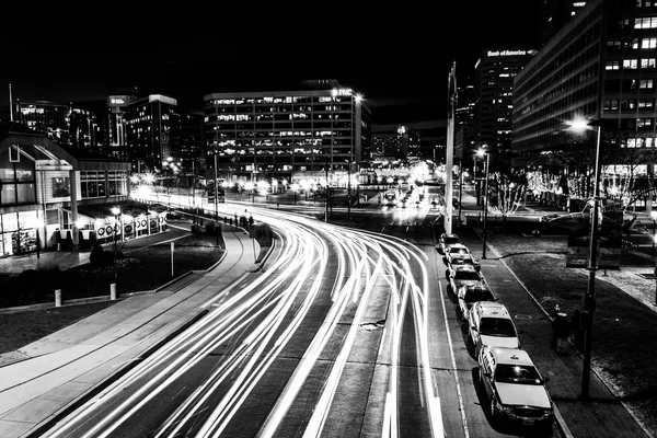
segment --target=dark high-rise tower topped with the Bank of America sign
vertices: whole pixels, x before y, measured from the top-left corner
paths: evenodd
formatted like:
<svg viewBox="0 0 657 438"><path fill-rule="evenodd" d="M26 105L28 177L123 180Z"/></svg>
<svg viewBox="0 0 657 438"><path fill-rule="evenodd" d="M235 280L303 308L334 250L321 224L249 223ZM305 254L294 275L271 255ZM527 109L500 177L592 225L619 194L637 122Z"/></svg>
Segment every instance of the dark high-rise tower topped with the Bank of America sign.
<svg viewBox="0 0 657 438"><path fill-rule="evenodd" d="M475 147L491 151L491 168L503 170L511 151L514 79L537 51L528 48L487 48L475 69Z"/></svg>

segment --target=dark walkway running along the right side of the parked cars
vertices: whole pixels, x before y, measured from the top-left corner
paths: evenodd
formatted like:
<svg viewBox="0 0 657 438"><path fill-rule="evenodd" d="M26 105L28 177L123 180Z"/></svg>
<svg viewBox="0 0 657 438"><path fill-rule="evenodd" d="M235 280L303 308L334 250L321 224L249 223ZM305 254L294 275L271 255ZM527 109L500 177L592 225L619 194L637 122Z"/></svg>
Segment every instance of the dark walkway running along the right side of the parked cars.
<svg viewBox="0 0 657 438"><path fill-rule="evenodd" d="M475 210L475 199L463 196L463 205ZM456 231L475 256L483 254L482 240L472 229ZM489 242L488 242L489 243ZM604 382L591 372L590 402L579 400L583 359L567 344L563 354L552 347L552 320L499 258L494 245L487 244L487 258L482 260L482 274L515 318L526 349L541 372L550 377L546 387L554 401L557 423L566 437L646 437L647 433L625 410Z"/></svg>

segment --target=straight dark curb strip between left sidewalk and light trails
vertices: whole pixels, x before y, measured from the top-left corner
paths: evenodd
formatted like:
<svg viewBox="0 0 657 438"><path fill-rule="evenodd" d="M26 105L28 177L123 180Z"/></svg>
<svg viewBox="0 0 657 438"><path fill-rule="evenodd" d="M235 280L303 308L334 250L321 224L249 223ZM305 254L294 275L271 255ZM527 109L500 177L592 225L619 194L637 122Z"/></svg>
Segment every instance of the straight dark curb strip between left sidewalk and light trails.
<svg viewBox="0 0 657 438"><path fill-rule="evenodd" d="M170 342L171 339L176 337L178 334L181 334L182 332L184 332L185 330L187 330L188 327L194 325L197 321L199 321L207 313L208 313L208 310L204 309L200 312L194 314L187 321L183 322L180 326L177 326L173 332L171 332L170 334L168 334L166 336L164 336L163 338L158 341L155 344L151 345L146 350L143 350L143 353L141 353L141 355L139 355L139 357L136 358L136 360L130 360L130 361L126 362L123 367L117 368L116 371L114 371L110 376L105 377L99 383L94 384L92 388L87 390L82 395L78 396L72 402L62 406L60 410L58 410L55 414L50 415L45 420L38 423L31 431L27 433L27 435L25 435L25 437L37 438L37 437L42 436L46 430L48 430L53 426L55 426L55 424L57 424L62 418L70 415L78 407L80 407L81 405L83 405L84 403L87 403L88 401L93 399L95 395L101 393L103 390L105 390L107 387L110 387L112 383L114 383L115 381L120 379L128 371L130 371L132 368L135 368L139 362L141 362L143 359L148 358L150 355L152 355L154 351L157 351L159 348L161 348L164 344L166 344L168 342Z"/></svg>

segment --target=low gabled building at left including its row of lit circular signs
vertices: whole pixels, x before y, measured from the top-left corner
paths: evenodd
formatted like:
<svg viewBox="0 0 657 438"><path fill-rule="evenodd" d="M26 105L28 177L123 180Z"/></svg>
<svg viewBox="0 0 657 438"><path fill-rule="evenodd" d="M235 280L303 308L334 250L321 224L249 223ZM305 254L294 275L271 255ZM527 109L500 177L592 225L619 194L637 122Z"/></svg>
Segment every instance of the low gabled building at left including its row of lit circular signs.
<svg viewBox="0 0 657 438"><path fill-rule="evenodd" d="M129 162L67 150L15 124L0 128L0 256L165 229L164 211L129 201Z"/></svg>

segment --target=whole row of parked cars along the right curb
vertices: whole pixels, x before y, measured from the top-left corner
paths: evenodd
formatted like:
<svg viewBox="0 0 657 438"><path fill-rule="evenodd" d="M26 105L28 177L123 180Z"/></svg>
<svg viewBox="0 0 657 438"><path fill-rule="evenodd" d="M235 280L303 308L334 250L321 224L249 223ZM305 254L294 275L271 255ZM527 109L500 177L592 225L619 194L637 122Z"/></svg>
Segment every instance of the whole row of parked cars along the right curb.
<svg viewBox="0 0 657 438"><path fill-rule="evenodd" d="M514 320L485 281L480 260L453 233L440 235L437 251L447 266L448 292L457 296L458 313L468 323L492 420L552 428L548 378L521 348Z"/></svg>

